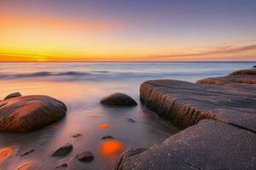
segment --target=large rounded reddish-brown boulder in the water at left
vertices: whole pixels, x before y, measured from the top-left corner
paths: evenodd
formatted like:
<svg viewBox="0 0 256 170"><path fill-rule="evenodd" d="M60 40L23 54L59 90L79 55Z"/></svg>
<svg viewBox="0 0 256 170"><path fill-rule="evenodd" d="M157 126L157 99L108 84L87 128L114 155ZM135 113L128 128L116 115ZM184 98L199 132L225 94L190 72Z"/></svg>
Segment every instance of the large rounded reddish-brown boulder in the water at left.
<svg viewBox="0 0 256 170"><path fill-rule="evenodd" d="M67 107L49 96L31 95L0 102L0 132L29 132L66 116Z"/></svg>

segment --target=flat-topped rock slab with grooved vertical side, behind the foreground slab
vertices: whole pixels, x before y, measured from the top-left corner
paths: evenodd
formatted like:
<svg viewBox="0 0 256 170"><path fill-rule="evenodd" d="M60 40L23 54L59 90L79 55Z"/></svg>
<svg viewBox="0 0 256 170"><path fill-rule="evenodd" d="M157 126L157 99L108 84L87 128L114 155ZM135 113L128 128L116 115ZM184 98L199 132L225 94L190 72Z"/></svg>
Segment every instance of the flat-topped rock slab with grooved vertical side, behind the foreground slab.
<svg viewBox="0 0 256 170"><path fill-rule="evenodd" d="M176 80L143 82L144 105L178 127L201 119L226 122L256 132L256 85L195 84Z"/></svg>

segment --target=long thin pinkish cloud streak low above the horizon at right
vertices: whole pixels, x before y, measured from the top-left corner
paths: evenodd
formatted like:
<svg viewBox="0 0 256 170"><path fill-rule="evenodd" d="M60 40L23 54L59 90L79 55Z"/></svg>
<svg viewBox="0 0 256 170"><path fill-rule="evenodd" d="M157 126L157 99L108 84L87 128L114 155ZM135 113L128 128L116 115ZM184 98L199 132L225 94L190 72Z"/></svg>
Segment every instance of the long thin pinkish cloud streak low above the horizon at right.
<svg viewBox="0 0 256 170"><path fill-rule="evenodd" d="M207 50L204 52L198 53L187 53L187 54L170 54L170 55L150 55L148 58L157 57L157 59L178 59L178 58L186 58L186 57L202 57L209 55L227 55L227 54L243 54L247 52L256 52L256 44L241 46L241 47L220 47L211 50Z"/></svg>

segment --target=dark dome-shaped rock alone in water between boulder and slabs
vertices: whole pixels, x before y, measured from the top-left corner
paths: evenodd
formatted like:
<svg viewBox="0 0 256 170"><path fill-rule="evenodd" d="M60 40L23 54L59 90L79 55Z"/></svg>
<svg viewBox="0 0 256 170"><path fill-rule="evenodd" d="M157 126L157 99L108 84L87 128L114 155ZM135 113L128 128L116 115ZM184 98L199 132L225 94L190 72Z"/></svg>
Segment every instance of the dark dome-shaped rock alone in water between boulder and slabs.
<svg viewBox="0 0 256 170"><path fill-rule="evenodd" d="M116 93L104 97L101 100L102 105L119 105L119 106L134 106L137 102L126 94Z"/></svg>

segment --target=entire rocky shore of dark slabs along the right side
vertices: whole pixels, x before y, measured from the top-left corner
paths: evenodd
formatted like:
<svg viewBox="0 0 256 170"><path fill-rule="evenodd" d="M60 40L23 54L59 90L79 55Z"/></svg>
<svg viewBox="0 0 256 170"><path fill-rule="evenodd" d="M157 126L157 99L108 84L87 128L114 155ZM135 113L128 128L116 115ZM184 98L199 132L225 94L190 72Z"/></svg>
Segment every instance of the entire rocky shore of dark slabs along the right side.
<svg viewBox="0 0 256 170"><path fill-rule="evenodd" d="M116 170L256 167L256 69L196 83L143 82L140 99L183 131L148 150L126 151Z"/></svg>

